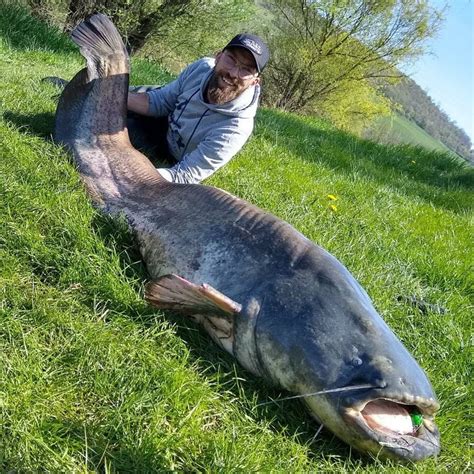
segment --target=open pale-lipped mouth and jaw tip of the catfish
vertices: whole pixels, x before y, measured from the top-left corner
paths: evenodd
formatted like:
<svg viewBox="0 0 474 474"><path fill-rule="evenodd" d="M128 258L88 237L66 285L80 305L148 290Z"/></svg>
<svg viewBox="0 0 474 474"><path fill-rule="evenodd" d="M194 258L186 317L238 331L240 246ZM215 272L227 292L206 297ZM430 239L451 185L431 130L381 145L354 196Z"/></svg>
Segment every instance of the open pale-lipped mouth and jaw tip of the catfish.
<svg viewBox="0 0 474 474"><path fill-rule="evenodd" d="M413 402L415 398L412 403L376 398L363 402L359 409L347 409L344 418L365 438L363 444L372 445L371 451L418 461L439 452L439 432L433 421L439 405L419 397Z"/></svg>

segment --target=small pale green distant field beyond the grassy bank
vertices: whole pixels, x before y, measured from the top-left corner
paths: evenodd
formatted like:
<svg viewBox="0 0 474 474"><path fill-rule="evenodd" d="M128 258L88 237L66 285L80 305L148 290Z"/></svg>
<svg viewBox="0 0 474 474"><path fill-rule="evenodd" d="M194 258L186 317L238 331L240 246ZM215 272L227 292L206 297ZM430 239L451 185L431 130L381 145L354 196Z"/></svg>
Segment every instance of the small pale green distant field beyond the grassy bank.
<svg viewBox="0 0 474 474"><path fill-rule="evenodd" d="M406 143L422 146L428 150L452 153L446 145L426 133L416 123L397 113L392 117L379 119L374 126L373 136L383 143Z"/></svg>

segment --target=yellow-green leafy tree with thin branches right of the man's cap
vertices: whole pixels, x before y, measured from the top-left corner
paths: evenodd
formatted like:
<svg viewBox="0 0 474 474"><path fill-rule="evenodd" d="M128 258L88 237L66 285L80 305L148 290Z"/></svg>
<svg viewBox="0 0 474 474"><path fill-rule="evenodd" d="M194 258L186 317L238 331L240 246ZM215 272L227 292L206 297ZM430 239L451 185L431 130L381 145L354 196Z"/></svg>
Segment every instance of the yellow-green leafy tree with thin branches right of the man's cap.
<svg viewBox="0 0 474 474"><path fill-rule="evenodd" d="M318 109L351 84L400 77L402 62L424 52L441 14L420 0L268 0L272 61L265 103Z"/></svg>

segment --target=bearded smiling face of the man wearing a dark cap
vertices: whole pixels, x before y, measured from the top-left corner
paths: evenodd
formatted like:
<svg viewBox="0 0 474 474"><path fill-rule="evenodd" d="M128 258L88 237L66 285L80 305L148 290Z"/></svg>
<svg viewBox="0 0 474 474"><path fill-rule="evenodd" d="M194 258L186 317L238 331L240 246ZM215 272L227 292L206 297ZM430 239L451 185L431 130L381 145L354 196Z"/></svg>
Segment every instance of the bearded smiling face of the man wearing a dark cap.
<svg viewBox="0 0 474 474"><path fill-rule="evenodd" d="M260 82L253 56L243 48L231 48L216 56L214 73L207 89L212 104L235 99L245 89Z"/></svg>

